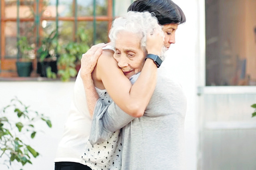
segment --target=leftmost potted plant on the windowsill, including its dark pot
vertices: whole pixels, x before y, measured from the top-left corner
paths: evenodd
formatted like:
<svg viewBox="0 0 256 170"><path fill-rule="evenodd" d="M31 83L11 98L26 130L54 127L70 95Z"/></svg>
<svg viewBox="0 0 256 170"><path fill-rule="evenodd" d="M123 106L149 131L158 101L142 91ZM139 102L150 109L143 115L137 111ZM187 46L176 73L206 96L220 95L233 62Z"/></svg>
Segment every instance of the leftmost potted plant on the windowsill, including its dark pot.
<svg viewBox="0 0 256 170"><path fill-rule="evenodd" d="M19 77L29 77L33 70L31 56L34 54L34 48L29 45L26 36L21 36L17 42L19 48L19 58L16 61L17 73Z"/></svg>

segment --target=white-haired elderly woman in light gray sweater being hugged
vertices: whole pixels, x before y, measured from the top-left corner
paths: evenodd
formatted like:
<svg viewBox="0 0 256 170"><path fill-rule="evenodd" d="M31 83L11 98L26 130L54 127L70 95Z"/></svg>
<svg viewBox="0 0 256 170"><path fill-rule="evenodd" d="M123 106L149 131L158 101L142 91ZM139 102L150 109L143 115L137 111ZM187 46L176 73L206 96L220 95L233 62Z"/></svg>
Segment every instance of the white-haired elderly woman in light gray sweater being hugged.
<svg viewBox="0 0 256 170"><path fill-rule="evenodd" d="M144 12L140 15L149 15L149 13ZM141 77L139 72L142 70L144 61L151 56L145 51L144 45L147 31L142 31L150 27L142 27L145 26L143 22L147 20L143 17L138 18L140 18L139 14L128 12L125 17L114 21L109 34L115 47L114 59L126 77L130 78L131 83L139 80ZM141 22L142 26L139 24ZM100 62L101 57L97 64ZM160 62L154 60L156 66L161 65ZM96 66L95 71L99 66ZM84 81L92 79L87 78ZM89 89L89 86L87 87ZM108 88L111 91L111 87ZM181 170L184 169L185 112L186 98L181 86L164 75L164 70L160 67L157 72L155 91L147 109L142 114L126 114L115 103L106 106L102 100L97 100L90 143L95 147L96 143L112 141L113 133L123 128L123 148L120 149L122 150L121 169ZM115 153L117 152L115 150Z"/></svg>

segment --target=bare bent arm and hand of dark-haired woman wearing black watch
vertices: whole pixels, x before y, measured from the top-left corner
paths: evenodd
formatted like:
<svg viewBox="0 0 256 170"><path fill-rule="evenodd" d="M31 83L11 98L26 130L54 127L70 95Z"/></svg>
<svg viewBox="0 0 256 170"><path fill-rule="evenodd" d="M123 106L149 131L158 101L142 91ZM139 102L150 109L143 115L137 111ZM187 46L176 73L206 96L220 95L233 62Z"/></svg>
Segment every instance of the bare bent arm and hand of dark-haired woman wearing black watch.
<svg viewBox="0 0 256 170"><path fill-rule="evenodd" d="M148 35L148 53L160 54L162 43L163 37L159 33ZM133 117L141 117L155 89L156 71L153 60L147 59L141 75L132 85L118 67L113 55L104 51L97 61L94 78L102 81L111 98L122 110ZM84 82L90 81L87 79L90 77L84 78ZM85 90L89 88L86 87Z"/></svg>

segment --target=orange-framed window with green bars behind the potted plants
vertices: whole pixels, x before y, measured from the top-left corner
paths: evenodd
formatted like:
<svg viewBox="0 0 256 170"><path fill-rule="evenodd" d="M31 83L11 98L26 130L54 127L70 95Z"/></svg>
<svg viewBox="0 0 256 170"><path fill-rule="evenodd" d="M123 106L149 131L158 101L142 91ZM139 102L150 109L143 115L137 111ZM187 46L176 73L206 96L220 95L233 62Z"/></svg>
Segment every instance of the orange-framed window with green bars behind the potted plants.
<svg viewBox="0 0 256 170"><path fill-rule="evenodd" d="M17 43L27 37L33 47L31 77L37 77L38 49L42 41L54 33L58 46L79 42L80 29L88 35L87 45L108 42L113 20L112 0L0 0L0 77L17 77L16 61L21 56ZM54 46L57 48L57 46ZM58 57L58 56L57 56Z"/></svg>

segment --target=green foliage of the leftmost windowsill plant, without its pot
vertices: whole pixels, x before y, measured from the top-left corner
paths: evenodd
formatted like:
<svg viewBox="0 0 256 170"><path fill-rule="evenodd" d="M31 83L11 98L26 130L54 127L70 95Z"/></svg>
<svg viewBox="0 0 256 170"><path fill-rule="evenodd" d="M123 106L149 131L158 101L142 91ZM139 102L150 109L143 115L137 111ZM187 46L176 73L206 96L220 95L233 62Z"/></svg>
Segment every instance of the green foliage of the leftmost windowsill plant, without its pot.
<svg viewBox="0 0 256 170"><path fill-rule="evenodd" d="M20 60L31 61L30 56L34 53L34 48L29 44L26 36L21 36L17 42L17 46L20 49Z"/></svg>

